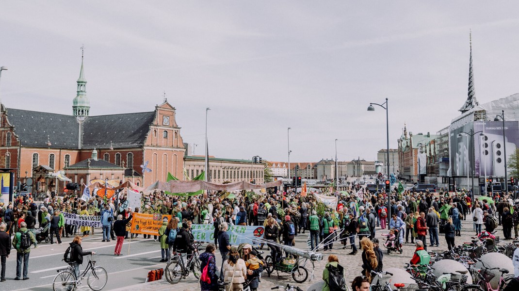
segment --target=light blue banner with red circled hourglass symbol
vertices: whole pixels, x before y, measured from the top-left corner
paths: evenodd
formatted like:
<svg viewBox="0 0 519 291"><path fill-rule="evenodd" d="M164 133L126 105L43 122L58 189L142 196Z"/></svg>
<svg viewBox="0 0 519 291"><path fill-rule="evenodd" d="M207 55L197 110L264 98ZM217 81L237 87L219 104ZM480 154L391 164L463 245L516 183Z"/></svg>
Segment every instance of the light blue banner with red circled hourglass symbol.
<svg viewBox="0 0 519 291"><path fill-rule="evenodd" d="M214 242L214 226L212 224L194 224L192 225L193 236L196 241ZM263 237L265 228L263 226L241 226L229 225L227 234L229 234L229 243L231 245L239 245L240 243L259 244L250 239Z"/></svg>

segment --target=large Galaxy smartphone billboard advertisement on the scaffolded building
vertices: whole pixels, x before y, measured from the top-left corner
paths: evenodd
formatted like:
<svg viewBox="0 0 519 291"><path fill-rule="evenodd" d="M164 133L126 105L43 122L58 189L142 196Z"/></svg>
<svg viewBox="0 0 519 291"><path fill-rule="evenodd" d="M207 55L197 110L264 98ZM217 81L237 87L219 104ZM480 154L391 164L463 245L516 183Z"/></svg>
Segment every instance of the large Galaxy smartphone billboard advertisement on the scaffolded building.
<svg viewBox="0 0 519 291"><path fill-rule="evenodd" d="M504 141L502 126L502 121L474 121L452 129L449 144L452 175L468 176L474 170L474 176L504 177L504 149L508 160L519 146L519 122L504 122Z"/></svg>

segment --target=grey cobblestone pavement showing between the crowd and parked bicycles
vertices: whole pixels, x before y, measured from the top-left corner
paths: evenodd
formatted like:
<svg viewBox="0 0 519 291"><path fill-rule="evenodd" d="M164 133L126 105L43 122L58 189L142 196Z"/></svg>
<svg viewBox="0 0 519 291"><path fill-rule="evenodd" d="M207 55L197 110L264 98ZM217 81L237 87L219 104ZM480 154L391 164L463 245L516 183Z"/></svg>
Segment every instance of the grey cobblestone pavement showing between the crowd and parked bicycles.
<svg viewBox="0 0 519 291"><path fill-rule="evenodd" d="M456 237L456 244L460 244L462 242L470 242L471 237L474 236L475 231L473 230L473 224L470 220L470 215L468 220L462 221L462 230L461 230L461 237ZM394 253L391 252L391 254L387 254L387 250L384 247L383 243L386 241L386 238L383 237L382 233L387 233L387 230L381 230L380 227L376 228L376 238L380 240L380 247L384 253L384 269L386 268L403 268L406 263L411 260L413 257L413 253L415 250L414 244L411 244L411 239L409 239L409 244L403 245L403 253ZM498 227L498 235L502 237L502 227ZM434 252L443 252L447 250L447 243L445 242L444 234L440 234L440 246L439 247L431 247L429 242L429 235L427 237L427 251L434 251ZM307 248L306 240L308 238L308 232L305 234L301 233L299 234L295 241L296 241L296 247L299 248ZM405 242L405 239L404 239ZM359 246L359 241L356 239L356 244ZM340 247L339 247L340 246ZM310 274L312 271L312 267L310 262L306 265L308 271L309 271L309 279L304 283L298 284L296 283L290 274L286 273L280 273L280 277L278 278L276 272L272 273L270 278L267 276L267 272L263 272L262 279L260 283L260 288L258 290L270 290L271 287L277 286L277 285L286 285L291 284L298 287L301 287L302 289L306 290L310 285L312 285L315 282L322 280L322 271L326 265L328 256L330 254L335 254L339 257L339 264L341 264L345 268L345 274L346 274L346 281L348 284L355 278L356 276L361 274L362 268L362 258L361 258L361 252L359 252L357 255L348 255L348 253L351 252L351 249L348 247L346 250L342 249L342 246L340 243L334 243L334 250L331 252L322 252L323 254L323 260L320 262L315 262L315 271L314 276L315 278L310 279ZM268 255L269 252L265 251L266 248L264 248L264 256ZM216 252L217 257L217 264L218 269L220 269L221 259L219 258L220 255L218 252ZM165 266L164 266L165 267ZM162 279L155 282L150 283L144 283L144 284L138 284L131 287L132 291L159 291L159 290L171 290L171 289L178 289L178 290L200 290L200 285L198 283L198 280L193 276L193 274L190 274L187 279L182 280L181 282L177 284L170 284L166 279ZM117 291L127 290L126 288L116 289Z"/></svg>

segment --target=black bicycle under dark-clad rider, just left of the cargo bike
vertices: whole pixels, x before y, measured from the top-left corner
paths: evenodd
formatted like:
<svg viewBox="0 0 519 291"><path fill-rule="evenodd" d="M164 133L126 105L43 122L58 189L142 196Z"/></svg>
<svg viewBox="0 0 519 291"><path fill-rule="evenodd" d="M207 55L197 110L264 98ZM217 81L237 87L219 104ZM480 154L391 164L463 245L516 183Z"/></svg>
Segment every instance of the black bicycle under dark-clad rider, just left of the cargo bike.
<svg viewBox="0 0 519 291"><path fill-rule="evenodd" d="M185 279L189 275L190 271L193 271L196 279L200 279L202 270L200 260L198 259L198 248L201 245L200 242L196 242L195 252L193 254L178 254L168 261L164 273L166 274L166 280L168 280L170 284L179 283L182 278ZM184 264L184 258L187 264Z"/></svg>

